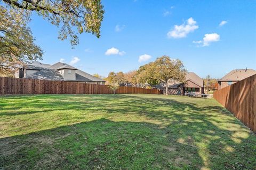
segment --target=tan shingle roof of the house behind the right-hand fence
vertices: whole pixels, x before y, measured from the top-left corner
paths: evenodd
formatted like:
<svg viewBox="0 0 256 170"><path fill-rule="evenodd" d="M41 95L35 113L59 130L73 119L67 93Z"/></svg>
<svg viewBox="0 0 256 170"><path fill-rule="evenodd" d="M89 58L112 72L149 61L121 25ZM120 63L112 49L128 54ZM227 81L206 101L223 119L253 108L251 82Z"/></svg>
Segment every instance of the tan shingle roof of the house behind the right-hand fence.
<svg viewBox="0 0 256 170"><path fill-rule="evenodd" d="M256 74L256 71L253 69L236 69L230 71L227 75L225 75L218 81L240 81L254 74Z"/></svg>

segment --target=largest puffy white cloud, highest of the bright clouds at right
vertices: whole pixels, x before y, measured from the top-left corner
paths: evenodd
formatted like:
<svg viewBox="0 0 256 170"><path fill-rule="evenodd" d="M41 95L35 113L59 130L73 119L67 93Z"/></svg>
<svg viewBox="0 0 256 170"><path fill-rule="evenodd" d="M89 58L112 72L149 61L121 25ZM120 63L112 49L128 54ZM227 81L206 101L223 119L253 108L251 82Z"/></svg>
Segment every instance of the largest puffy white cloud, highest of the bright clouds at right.
<svg viewBox="0 0 256 170"><path fill-rule="evenodd" d="M174 28L167 33L167 38L183 38L198 28L199 26L196 25L196 21L190 17L182 25L175 25Z"/></svg>

